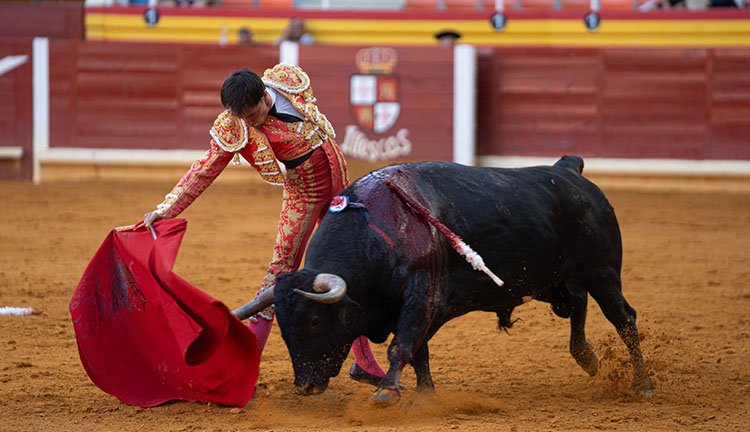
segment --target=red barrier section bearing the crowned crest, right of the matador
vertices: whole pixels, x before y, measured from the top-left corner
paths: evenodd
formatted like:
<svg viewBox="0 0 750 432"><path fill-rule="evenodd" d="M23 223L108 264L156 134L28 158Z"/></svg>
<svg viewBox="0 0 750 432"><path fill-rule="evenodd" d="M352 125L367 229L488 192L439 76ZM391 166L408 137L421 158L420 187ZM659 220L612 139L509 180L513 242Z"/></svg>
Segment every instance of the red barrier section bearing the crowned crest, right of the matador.
<svg viewBox="0 0 750 432"><path fill-rule="evenodd" d="M453 50L302 46L299 64L350 160L374 168L453 159ZM369 103L352 94L358 78L378 81L378 101L398 104L392 125L373 129L366 121Z"/></svg>

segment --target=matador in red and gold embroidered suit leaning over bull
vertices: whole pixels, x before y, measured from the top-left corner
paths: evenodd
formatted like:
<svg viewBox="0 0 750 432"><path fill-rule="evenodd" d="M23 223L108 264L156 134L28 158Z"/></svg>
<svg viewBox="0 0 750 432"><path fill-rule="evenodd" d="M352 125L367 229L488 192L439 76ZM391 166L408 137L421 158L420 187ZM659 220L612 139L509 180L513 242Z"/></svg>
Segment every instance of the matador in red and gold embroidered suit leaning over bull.
<svg viewBox="0 0 750 432"><path fill-rule="evenodd" d="M276 277L299 268L310 235L325 215L331 198L348 184L346 161L328 118L320 112L310 78L299 67L279 64L263 77L241 69L224 81L221 101L226 110L211 127L210 147L196 160L156 210L144 216L150 226L158 218L184 211L229 164L241 156L266 182L283 186L281 215L273 257L260 290ZM262 351L274 318L273 306L251 317L249 327ZM350 376L377 384L384 372L368 340L352 346Z"/></svg>

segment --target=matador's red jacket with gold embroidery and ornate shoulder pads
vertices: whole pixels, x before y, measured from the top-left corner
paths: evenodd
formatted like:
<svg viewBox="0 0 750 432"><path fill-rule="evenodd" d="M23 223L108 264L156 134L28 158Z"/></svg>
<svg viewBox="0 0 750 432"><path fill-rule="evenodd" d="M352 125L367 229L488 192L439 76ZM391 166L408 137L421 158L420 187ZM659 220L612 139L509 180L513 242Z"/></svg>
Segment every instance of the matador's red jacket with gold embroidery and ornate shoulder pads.
<svg viewBox="0 0 750 432"><path fill-rule="evenodd" d="M337 168L346 181L346 164L333 140L336 136L333 126L315 104L317 99L307 74L299 67L279 64L266 69L262 79L267 87L288 99L305 120L287 123L268 116L262 126L253 128L245 119L230 114L229 110L219 114L210 130L209 150L193 163L157 206L156 212L163 218L175 217L185 210L230 161L239 164L239 155L260 173L263 180L283 185L284 174L279 160L303 156L328 141L339 159Z"/></svg>

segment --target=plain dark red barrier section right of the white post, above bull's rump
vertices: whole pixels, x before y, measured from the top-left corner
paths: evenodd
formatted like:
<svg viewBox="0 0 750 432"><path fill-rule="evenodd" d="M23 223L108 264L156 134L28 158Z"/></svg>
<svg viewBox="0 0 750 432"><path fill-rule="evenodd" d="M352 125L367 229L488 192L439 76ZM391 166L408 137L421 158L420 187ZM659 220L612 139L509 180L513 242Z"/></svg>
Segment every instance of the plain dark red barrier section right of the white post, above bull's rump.
<svg viewBox="0 0 750 432"><path fill-rule="evenodd" d="M482 49L482 155L750 159L750 49Z"/></svg>

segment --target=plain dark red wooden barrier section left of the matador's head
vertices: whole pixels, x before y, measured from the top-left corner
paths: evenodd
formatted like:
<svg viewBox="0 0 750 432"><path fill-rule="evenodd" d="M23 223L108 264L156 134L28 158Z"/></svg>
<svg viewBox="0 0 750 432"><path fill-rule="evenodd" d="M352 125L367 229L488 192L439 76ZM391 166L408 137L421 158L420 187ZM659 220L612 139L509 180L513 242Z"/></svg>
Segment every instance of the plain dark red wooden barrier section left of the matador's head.
<svg viewBox="0 0 750 432"><path fill-rule="evenodd" d="M221 84L275 47L50 42L50 146L204 149Z"/></svg>

